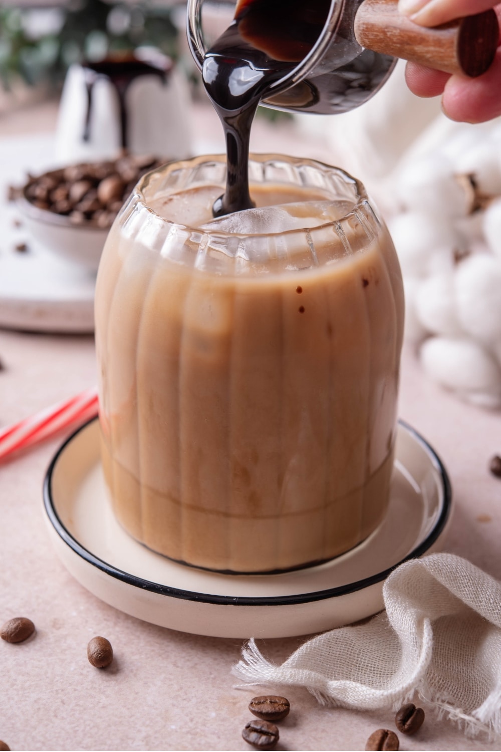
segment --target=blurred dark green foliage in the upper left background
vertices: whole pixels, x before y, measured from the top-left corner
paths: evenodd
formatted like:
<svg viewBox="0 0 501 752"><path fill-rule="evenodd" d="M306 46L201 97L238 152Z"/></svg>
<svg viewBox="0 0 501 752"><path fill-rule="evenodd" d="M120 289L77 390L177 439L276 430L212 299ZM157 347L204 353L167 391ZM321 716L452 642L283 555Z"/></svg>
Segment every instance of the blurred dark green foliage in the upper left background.
<svg viewBox="0 0 501 752"><path fill-rule="evenodd" d="M19 77L33 86L45 81L57 87L71 63L102 59L141 45L177 58L172 8L80 0L51 10L48 26L53 28L38 34L37 27L44 27L40 23L44 12L48 11L0 6L0 80L5 89Z"/></svg>

